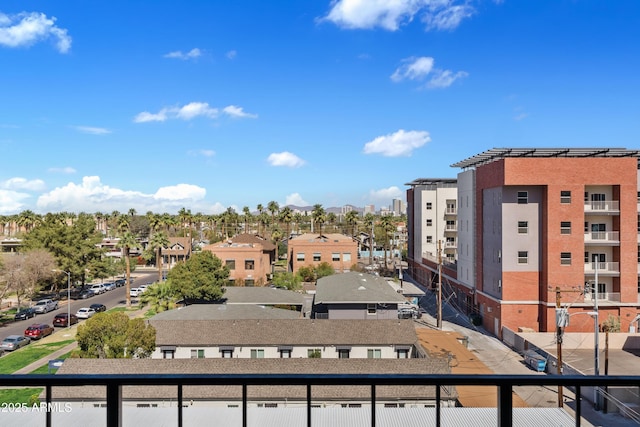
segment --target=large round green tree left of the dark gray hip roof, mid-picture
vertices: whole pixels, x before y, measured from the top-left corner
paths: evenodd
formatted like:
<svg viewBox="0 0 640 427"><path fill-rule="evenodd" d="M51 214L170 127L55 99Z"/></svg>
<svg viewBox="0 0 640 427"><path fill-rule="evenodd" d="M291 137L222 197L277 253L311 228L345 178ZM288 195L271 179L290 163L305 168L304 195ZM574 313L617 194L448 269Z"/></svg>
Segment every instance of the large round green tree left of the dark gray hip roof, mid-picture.
<svg viewBox="0 0 640 427"><path fill-rule="evenodd" d="M215 301L222 297L229 269L209 251L193 254L186 262L173 267L167 282L185 304Z"/></svg>

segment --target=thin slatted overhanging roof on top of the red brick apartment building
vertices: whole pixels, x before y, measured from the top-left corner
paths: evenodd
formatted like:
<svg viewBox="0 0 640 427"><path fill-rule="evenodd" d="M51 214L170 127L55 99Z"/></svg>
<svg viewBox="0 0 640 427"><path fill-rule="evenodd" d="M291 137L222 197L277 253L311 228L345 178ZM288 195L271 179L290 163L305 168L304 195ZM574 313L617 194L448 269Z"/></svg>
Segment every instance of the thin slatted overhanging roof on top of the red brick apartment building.
<svg viewBox="0 0 640 427"><path fill-rule="evenodd" d="M492 148L461 160L451 167L469 168L507 157L640 157L640 150L626 148Z"/></svg>

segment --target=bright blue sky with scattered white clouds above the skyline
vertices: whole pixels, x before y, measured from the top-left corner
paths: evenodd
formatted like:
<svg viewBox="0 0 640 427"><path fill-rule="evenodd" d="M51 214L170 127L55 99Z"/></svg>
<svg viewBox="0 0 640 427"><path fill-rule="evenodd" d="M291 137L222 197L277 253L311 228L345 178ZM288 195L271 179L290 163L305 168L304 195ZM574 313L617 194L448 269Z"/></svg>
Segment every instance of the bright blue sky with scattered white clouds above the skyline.
<svg viewBox="0 0 640 427"><path fill-rule="evenodd" d="M388 206L494 147L637 148L640 2L0 3L0 214Z"/></svg>

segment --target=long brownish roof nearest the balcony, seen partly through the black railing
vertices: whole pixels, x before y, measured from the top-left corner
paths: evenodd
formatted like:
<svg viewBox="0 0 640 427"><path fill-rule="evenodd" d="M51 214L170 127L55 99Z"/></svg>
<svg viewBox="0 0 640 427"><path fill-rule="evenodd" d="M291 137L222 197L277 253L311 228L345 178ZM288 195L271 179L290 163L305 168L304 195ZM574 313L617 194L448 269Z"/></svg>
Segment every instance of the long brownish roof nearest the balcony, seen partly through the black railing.
<svg viewBox="0 0 640 427"><path fill-rule="evenodd" d="M94 374L446 374L446 359L75 359L64 361L56 375ZM160 380L161 381L161 380ZM160 382L159 381L159 382ZM442 398L455 399L452 393ZM175 386L127 386L127 400L175 399ZM185 386L184 399L240 400L239 386ZM313 386L314 400L368 400L370 386ZM53 399L105 399L101 386L54 387ZM263 401L305 400L305 386L250 386L250 399ZM433 386L378 386L379 400L427 400L435 397ZM283 402L284 403L284 402Z"/></svg>

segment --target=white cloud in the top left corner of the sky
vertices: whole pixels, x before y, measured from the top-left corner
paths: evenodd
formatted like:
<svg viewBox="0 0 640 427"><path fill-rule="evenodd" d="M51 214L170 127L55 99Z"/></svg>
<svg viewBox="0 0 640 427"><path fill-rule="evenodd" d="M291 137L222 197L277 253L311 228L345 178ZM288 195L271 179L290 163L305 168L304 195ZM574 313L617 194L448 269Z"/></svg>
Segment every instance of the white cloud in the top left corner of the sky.
<svg viewBox="0 0 640 427"><path fill-rule="evenodd" d="M0 13L0 45L28 47L43 40L53 39L60 53L71 49L67 30L55 25L56 18L44 13L22 12L17 15Z"/></svg>

